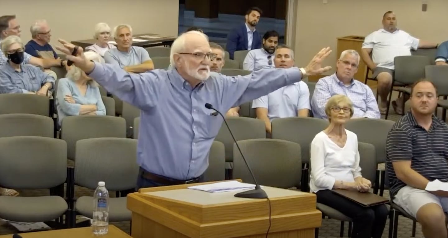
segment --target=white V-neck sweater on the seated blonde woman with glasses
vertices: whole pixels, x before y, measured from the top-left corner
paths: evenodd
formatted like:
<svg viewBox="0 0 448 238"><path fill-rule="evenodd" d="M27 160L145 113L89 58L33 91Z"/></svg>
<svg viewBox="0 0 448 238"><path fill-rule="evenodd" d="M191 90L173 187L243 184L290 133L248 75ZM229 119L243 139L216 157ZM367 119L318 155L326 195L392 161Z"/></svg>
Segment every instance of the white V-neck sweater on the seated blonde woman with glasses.
<svg viewBox="0 0 448 238"><path fill-rule="evenodd" d="M310 190L332 189L336 180L354 182L361 176L359 167L358 137L345 130L347 142L339 147L323 131L317 134L310 147Z"/></svg>

